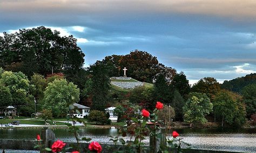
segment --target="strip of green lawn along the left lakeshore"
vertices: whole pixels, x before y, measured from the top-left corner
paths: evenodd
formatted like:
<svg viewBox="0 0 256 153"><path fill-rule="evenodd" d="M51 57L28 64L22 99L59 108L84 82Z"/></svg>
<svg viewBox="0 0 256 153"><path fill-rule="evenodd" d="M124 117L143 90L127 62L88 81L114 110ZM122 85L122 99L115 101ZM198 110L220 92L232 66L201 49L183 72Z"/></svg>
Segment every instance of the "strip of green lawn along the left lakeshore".
<svg viewBox="0 0 256 153"><path fill-rule="evenodd" d="M4 124L8 124L13 121L19 121L20 124L35 124L35 125L44 125L45 124L45 122L42 120L17 120L17 119L0 120L0 124L2 123L4 126ZM46 122L48 122L50 125L53 125L52 121L46 121ZM64 125L66 125L66 123L56 122L56 126L64 126Z"/></svg>

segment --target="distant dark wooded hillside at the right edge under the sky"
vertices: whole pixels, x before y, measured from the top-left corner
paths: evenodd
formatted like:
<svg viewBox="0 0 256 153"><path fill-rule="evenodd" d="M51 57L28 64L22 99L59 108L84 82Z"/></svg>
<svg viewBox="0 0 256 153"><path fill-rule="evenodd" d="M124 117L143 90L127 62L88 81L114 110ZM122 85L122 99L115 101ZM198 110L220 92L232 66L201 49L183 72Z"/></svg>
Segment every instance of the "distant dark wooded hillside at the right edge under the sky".
<svg viewBox="0 0 256 153"><path fill-rule="evenodd" d="M256 73L248 74L245 77L224 81L221 88L240 93L242 88L250 84L256 84Z"/></svg>

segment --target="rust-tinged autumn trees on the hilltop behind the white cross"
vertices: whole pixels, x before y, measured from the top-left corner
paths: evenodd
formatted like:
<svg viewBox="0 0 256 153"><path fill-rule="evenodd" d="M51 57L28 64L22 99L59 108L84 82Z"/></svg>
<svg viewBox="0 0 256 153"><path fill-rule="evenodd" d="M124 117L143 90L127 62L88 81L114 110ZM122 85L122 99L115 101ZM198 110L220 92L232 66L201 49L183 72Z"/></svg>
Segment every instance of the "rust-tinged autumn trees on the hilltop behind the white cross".
<svg viewBox="0 0 256 153"><path fill-rule="evenodd" d="M158 74L164 74L171 82L176 74L176 69L165 67L158 62L157 57L139 50L134 50L126 55L107 56L101 62L107 65L110 76L124 75L122 69L126 67L128 77L143 82L152 83Z"/></svg>

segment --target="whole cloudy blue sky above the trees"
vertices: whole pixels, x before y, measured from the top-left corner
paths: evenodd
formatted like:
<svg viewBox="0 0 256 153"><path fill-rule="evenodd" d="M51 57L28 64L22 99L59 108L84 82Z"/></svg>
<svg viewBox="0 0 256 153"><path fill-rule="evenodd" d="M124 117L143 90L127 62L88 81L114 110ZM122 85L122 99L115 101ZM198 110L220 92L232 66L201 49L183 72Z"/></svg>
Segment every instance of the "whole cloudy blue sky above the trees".
<svg viewBox="0 0 256 153"><path fill-rule="evenodd" d="M256 73L255 0L0 0L0 36L42 25L77 38L85 67L141 50L190 84Z"/></svg>

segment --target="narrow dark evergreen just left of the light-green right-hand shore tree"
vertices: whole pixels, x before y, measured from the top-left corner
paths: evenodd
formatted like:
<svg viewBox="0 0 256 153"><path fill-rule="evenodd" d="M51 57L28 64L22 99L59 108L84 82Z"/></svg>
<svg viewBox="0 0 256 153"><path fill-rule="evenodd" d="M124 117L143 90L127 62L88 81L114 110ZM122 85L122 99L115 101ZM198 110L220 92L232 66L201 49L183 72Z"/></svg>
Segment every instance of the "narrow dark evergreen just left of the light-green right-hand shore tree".
<svg viewBox="0 0 256 153"><path fill-rule="evenodd" d="M176 121L183 121L183 107L185 105L185 100L177 90L173 93L172 105L175 110Z"/></svg>

